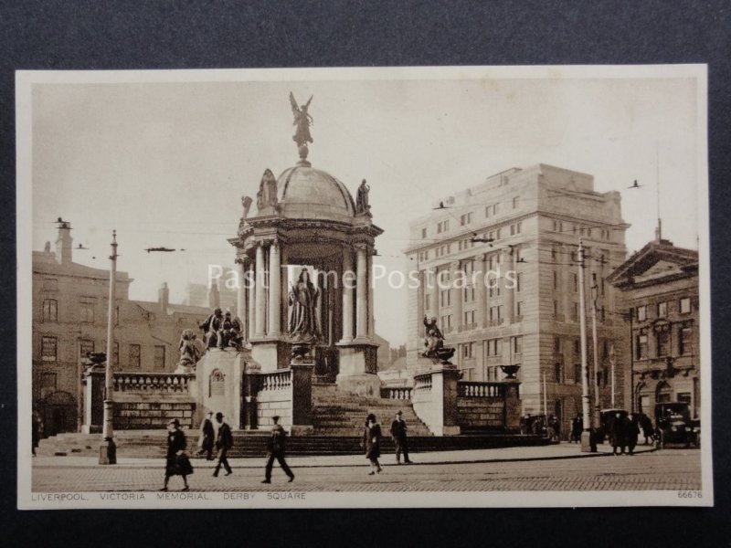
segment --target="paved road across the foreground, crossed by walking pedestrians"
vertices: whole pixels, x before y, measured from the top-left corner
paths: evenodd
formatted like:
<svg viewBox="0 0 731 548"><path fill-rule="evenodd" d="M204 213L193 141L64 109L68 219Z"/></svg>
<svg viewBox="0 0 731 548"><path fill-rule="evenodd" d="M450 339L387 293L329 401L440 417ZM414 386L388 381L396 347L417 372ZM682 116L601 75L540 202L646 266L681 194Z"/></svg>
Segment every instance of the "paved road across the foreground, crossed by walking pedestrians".
<svg viewBox="0 0 731 548"><path fill-rule="evenodd" d="M291 458L296 479L287 483L275 465L272 484L262 485L262 459L232 461L234 473L212 477L212 463L194 460L194 491L502 491L502 490L700 490L700 451L664 449L633 457L581 454L576 446L481 449L414 455L417 464L396 466L381 459L384 472L368 476L365 458ZM164 461L121 460L99 466L90 458L36 458L33 490L152 491L161 487ZM182 488L180 478L170 489Z"/></svg>

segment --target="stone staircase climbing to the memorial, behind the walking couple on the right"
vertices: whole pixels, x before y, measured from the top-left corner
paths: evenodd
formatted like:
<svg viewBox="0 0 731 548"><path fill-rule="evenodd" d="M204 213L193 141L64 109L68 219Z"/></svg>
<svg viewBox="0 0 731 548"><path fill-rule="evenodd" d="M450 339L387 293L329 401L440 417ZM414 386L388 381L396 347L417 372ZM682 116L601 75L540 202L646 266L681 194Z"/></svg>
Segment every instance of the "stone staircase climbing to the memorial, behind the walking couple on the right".
<svg viewBox="0 0 731 548"><path fill-rule="evenodd" d="M397 411L408 426L409 437L431 436L407 400L365 397L339 390L335 385L313 385L313 427L315 436L361 437L365 417L376 416L384 437L389 437Z"/></svg>

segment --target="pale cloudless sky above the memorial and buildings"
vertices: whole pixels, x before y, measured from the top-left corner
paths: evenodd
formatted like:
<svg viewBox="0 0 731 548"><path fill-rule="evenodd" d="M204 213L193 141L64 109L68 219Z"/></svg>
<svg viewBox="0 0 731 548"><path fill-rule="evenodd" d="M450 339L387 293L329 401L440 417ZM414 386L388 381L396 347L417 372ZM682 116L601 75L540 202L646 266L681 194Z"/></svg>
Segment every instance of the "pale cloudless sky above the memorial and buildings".
<svg viewBox="0 0 731 548"><path fill-rule="evenodd" d="M188 281L206 281L208 264L233 266L227 238L236 235L241 195L256 195L267 168L278 175L298 160L290 91L301 103L314 96L313 167L354 196L368 181L374 222L385 230L374 262L387 269L408 268L409 220L491 174L536 163L619 190L629 252L653 237L658 181L662 236L697 248L703 231L705 121L698 82L682 71L567 78L544 68L513 78L489 69L332 69L261 78L249 70L226 79L150 71L94 83L95 74L60 83L57 73L31 88L33 249L55 241L61 216L74 246L89 248L74 260L107 269L116 229L132 299L156 300L167 282L180 302ZM643 186L628 189L635 179ZM159 246L185 252L144 250ZM376 332L406 342L406 290L376 283L375 309Z"/></svg>

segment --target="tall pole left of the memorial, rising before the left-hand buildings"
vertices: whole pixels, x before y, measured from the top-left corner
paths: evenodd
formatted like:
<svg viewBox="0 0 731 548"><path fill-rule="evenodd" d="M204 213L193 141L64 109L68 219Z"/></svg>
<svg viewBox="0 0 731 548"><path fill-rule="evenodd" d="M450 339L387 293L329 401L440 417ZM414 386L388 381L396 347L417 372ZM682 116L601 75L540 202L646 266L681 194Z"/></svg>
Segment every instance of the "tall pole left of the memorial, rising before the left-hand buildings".
<svg viewBox="0 0 731 548"><path fill-rule="evenodd" d="M99 464L117 464L117 446L114 444L114 320L117 310L117 231L111 232L111 268L109 272L109 313L107 314L107 366L104 377L104 426L101 431Z"/></svg>

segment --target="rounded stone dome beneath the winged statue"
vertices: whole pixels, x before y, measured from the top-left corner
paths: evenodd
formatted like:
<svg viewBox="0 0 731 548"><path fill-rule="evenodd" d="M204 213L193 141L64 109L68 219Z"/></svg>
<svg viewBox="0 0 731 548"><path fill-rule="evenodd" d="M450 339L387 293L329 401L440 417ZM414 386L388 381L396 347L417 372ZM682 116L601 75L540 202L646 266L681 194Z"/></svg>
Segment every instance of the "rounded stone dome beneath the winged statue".
<svg viewBox="0 0 731 548"><path fill-rule="evenodd" d="M351 223L355 203L345 185L333 175L299 163L277 179L280 215L299 219L327 219Z"/></svg>

